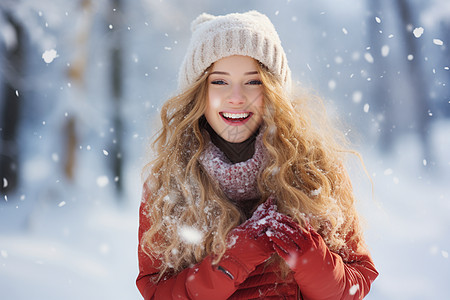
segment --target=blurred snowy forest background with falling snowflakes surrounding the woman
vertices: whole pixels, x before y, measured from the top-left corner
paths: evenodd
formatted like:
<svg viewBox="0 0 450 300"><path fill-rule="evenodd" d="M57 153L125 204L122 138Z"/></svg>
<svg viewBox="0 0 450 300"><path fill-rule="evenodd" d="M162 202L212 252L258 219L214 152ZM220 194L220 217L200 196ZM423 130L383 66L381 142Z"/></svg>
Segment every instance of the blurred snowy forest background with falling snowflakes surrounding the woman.
<svg viewBox="0 0 450 300"><path fill-rule="evenodd" d="M1 299L140 299L141 169L190 22L251 9L364 158L367 299L449 299L447 0L1 0Z"/></svg>

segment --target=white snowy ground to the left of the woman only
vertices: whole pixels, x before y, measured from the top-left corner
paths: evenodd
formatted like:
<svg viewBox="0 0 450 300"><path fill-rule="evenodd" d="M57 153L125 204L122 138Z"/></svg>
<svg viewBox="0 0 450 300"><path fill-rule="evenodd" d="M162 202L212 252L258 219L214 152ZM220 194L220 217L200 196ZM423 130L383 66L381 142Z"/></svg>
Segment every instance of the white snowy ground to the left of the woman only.
<svg viewBox="0 0 450 300"><path fill-rule="evenodd" d="M20 213L23 202L2 203L0 298L139 299L134 196L127 206L42 203L31 219Z"/></svg>

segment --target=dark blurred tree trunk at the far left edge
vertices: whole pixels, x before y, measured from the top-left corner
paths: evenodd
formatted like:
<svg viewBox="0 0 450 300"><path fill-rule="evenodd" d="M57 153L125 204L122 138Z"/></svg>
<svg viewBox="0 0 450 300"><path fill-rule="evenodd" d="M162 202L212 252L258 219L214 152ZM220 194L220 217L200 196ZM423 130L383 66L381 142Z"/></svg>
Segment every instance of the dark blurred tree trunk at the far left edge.
<svg viewBox="0 0 450 300"><path fill-rule="evenodd" d="M22 91L24 66L24 30L11 11L0 12L4 14L6 25L12 36L5 42L3 61L3 95L2 117L0 119L0 190L3 193L14 191L19 180L19 154L17 145L17 131L20 121L20 105L23 99L19 98Z"/></svg>

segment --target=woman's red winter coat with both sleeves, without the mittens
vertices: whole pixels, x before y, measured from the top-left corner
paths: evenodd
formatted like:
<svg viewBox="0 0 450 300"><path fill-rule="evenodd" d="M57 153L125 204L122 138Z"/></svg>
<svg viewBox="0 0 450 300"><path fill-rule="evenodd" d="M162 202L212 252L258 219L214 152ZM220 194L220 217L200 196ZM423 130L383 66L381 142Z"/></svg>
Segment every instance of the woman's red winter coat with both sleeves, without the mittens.
<svg viewBox="0 0 450 300"><path fill-rule="evenodd" d="M143 206L141 204L139 241L150 227ZM159 275L159 262L152 261L141 250L139 242L139 275L136 284L145 300L362 299L378 276L369 254L356 253L352 255L351 262L344 262L341 256L328 249L319 234L311 231L311 237L314 251L303 254L305 264L301 271L295 274L291 272L287 278L281 278L278 264L261 264L250 270L248 277L241 283L236 283L212 265L212 258L208 256L192 268L155 284L153 280ZM221 262L225 269L226 263Z"/></svg>

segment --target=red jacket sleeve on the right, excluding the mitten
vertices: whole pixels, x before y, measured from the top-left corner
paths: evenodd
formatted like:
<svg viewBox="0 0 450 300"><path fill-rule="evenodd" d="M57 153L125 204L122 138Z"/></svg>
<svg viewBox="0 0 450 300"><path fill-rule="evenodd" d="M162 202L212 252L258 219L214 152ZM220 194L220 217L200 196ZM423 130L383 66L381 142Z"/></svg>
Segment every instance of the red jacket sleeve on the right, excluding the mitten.
<svg viewBox="0 0 450 300"><path fill-rule="evenodd" d="M363 299L378 276L368 253L353 253L351 262L331 252L323 238L311 230L313 246L301 256L294 274L305 300Z"/></svg>

